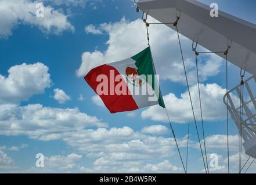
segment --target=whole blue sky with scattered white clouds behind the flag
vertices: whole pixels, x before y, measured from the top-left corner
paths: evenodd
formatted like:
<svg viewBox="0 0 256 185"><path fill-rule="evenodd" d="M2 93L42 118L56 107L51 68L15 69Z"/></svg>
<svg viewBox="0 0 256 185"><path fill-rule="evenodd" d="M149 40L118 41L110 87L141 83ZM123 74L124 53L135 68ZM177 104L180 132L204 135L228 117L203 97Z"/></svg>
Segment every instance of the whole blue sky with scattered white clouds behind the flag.
<svg viewBox="0 0 256 185"><path fill-rule="evenodd" d="M0 0L0 172L182 173L161 108L110 114L83 79L92 66L134 56L146 47L145 25L134 2L45 0L43 18L29 13L37 10L37 2ZM256 24L254 1L214 2L224 12ZM190 124L188 172L203 172L176 33L159 25L150 27L150 34L182 157L185 160ZM190 40L182 38L182 43L196 104L194 54ZM225 61L205 55L199 62L207 154L219 156L219 166L211 172L227 172ZM230 64L229 71L229 86L234 87L240 69ZM230 166L237 172L238 131L231 119L229 125ZM45 156L44 168L35 166L37 153Z"/></svg>

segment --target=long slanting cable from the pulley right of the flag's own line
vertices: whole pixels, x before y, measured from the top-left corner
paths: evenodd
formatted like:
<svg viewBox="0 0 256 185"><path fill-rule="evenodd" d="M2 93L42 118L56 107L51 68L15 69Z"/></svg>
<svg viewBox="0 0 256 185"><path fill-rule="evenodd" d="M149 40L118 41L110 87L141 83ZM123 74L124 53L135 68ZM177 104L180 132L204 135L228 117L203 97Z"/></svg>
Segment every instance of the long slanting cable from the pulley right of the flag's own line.
<svg viewBox="0 0 256 185"><path fill-rule="evenodd" d="M184 68L185 77L186 77L186 83L187 83L188 91L189 91L189 98L190 98L190 103L191 103L193 117L194 117L194 124L196 126L197 138L199 140L199 146L200 146L201 155L202 155L203 162L204 162L205 173L207 173L207 169L206 169L206 165L205 165L205 161L204 161L204 154L203 154L203 150L202 150L202 147L201 147L201 140L200 140L199 131L198 131L198 128L197 128L197 123L196 123L196 116L194 116L194 108L193 108L192 98L191 98L190 89L189 89L189 82L188 82L188 76L187 76L187 73L186 73L185 62L184 62L184 58L183 58L183 52L182 52L182 47L181 47L181 39L179 38L178 21L179 21L179 17L177 17L177 19L174 23L174 27L176 27L176 31L177 31L177 34L178 34L179 48L181 50L181 57L182 57L183 68Z"/></svg>

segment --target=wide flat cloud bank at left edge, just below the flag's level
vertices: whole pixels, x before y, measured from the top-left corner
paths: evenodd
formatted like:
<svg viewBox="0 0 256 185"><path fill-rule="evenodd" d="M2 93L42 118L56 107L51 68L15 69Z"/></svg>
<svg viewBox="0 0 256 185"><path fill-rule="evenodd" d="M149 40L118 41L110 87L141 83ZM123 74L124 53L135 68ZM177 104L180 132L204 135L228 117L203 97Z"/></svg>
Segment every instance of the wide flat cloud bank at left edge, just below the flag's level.
<svg viewBox="0 0 256 185"><path fill-rule="evenodd" d="M78 108L47 108L39 104L0 105L0 134L28 135L33 139L62 139L67 132L86 127L106 127L95 116L81 113Z"/></svg>

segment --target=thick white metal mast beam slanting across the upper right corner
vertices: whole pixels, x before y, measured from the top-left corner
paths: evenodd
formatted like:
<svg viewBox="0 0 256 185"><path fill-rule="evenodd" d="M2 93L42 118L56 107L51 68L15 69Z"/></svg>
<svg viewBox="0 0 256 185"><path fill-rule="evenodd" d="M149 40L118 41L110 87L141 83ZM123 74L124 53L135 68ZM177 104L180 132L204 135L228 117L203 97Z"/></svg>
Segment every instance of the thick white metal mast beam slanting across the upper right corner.
<svg viewBox="0 0 256 185"><path fill-rule="evenodd" d="M210 16L210 7L194 0L139 0L139 9L161 23L180 17L179 32L210 51L229 50L229 62L256 75L256 25L219 10ZM172 24L168 27L176 28ZM223 53L218 56L226 58Z"/></svg>

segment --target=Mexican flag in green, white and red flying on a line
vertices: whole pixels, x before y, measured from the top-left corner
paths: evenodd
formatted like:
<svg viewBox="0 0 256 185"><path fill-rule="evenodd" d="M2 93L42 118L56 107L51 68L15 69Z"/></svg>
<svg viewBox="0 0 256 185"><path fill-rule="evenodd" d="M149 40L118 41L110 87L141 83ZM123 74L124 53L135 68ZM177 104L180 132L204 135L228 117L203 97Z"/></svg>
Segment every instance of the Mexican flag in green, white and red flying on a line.
<svg viewBox="0 0 256 185"><path fill-rule="evenodd" d="M165 108L150 47L131 58L93 68L84 79L111 113L157 104Z"/></svg>

